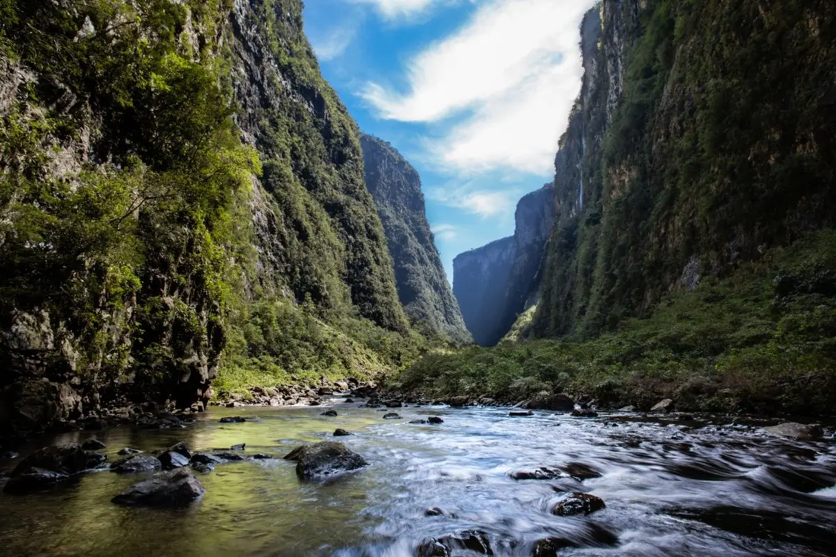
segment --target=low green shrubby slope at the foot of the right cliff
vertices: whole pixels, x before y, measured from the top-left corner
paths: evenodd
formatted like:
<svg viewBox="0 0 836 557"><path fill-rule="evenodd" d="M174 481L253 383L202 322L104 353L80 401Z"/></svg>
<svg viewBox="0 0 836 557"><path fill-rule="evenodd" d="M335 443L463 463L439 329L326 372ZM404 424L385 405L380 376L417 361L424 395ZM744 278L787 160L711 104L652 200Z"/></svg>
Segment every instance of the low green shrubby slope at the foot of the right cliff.
<svg viewBox="0 0 836 557"><path fill-rule="evenodd" d="M546 390L619 408L829 415L836 403L836 231L803 235L665 298L594 340L503 342L423 357L396 378L430 397L517 402Z"/></svg>

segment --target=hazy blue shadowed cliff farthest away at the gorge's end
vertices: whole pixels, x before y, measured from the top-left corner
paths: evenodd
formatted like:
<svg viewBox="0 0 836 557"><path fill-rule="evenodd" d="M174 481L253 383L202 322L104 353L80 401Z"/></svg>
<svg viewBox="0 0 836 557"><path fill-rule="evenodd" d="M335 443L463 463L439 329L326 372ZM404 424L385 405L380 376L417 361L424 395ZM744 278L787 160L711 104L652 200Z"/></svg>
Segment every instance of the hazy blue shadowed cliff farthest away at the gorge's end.
<svg viewBox="0 0 836 557"><path fill-rule="evenodd" d="M537 301L538 270L554 219L554 189L544 185L517 203L514 235L453 260L453 292L467 328L482 346L508 332Z"/></svg>

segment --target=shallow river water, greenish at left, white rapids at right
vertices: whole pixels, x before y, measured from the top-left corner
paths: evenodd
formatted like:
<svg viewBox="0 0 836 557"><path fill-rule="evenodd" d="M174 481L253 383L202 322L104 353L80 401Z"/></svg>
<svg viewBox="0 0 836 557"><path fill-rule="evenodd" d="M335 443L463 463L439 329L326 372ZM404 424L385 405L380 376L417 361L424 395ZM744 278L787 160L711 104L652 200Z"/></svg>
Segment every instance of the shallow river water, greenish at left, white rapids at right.
<svg viewBox="0 0 836 557"><path fill-rule="evenodd" d="M531 555L560 538L563 555L836 555L836 444L762 436L755 428L570 418L507 409L398 408L402 420L337 403L318 408L212 409L186 429L110 428L41 439L96 437L110 454L186 441L283 456L300 443L338 438L370 461L329 483L302 483L281 458L219 465L198 474L206 494L189 509L110 503L139 476L87 473L47 494L0 494L0 554L414 555L421 540L477 529L497 555ZM218 423L225 415L257 417ZM440 415L442 425L408 421ZM620 418L620 419L619 419ZM618 419L617 425L614 420ZM8 471L16 461L0 461ZM583 463L599 478L515 480L511 473ZM604 499L589 516L549 512L567 492ZM426 516L428 508L444 511ZM468 554L466 552L462 555Z"/></svg>

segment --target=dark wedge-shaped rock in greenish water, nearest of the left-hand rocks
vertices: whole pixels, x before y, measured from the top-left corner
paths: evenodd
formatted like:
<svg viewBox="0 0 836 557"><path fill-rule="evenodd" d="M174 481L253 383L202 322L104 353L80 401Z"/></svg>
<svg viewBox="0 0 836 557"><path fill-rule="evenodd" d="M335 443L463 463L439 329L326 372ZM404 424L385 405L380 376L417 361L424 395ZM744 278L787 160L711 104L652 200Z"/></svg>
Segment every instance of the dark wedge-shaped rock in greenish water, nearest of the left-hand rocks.
<svg viewBox="0 0 836 557"><path fill-rule="evenodd" d="M179 508L206 493L200 480L188 468L156 473L116 495L115 504Z"/></svg>

